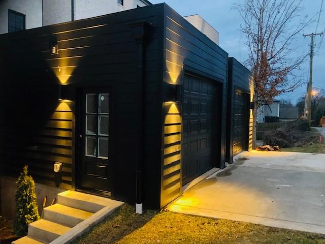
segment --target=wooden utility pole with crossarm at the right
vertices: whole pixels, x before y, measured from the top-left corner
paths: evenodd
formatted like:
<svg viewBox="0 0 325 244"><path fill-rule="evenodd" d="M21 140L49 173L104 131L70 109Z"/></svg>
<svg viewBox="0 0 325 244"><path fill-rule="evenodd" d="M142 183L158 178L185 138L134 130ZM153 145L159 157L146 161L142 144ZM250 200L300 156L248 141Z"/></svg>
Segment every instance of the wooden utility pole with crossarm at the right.
<svg viewBox="0 0 325 244"><path fill-rule="evenodd" d="M313 85L313 55L314 55L314 38L315 36L321 36L323 33L312 33L303 35L303 37L311 37L311 43L310 43L310 73L309 73L309 84L307 89L307 95L306 95L306 102L305 102L305 111L304 111L304 118L309 121L309 124L311 123L311 97L312 97L312 85Z"/></svg>

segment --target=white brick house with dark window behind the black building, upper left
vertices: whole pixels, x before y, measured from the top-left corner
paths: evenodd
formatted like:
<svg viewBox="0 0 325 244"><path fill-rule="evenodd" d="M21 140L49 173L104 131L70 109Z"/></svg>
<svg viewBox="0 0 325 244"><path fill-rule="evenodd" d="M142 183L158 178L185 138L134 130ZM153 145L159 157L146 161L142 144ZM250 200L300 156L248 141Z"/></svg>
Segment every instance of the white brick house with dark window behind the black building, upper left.
<svg viewBox="0 0 325 244"><path fill-rule="evenodd" d="M147 0L0 0L0 34L148 5Z"/></svg>

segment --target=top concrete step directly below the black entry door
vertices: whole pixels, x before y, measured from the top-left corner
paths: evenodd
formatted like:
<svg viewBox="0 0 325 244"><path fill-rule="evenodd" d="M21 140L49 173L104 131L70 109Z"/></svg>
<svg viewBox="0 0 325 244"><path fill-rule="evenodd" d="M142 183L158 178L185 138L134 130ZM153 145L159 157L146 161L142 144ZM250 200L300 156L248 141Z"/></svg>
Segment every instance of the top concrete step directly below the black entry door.
<svg viewBox="0 0 325 244"><path fill-rule="evenodd" d="M88 212L97 212L103 207L118 207L122 202L108 198L84 194L81 192L66 191L57 195L57 202L61 205L78 208Z"/></svg>

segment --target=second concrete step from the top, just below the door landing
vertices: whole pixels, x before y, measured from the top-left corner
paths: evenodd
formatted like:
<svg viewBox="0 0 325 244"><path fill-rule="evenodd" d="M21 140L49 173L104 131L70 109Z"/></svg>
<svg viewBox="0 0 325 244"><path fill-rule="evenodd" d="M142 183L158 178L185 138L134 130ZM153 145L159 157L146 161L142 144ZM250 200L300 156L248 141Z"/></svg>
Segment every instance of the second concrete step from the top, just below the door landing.
<svg viewBox="0 0 325 244"><path fill-rule="evenodd" d="M88 219L92 212L80 210L73 207L54 204L44 208L44 219L68 227L74 227L80 222Z"/></svg>

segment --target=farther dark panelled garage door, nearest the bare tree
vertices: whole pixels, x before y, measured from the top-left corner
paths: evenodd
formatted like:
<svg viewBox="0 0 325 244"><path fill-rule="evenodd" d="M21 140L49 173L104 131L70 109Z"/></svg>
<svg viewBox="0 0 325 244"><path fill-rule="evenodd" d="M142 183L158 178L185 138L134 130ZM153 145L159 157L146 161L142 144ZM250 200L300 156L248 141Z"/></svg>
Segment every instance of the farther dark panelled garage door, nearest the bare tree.
<svg viewBox="0 0 325 244"><path fill-rule="evenodd" d="M241 90L235 90L233 155L247 150L248 143L248 99Z"/></svg>

